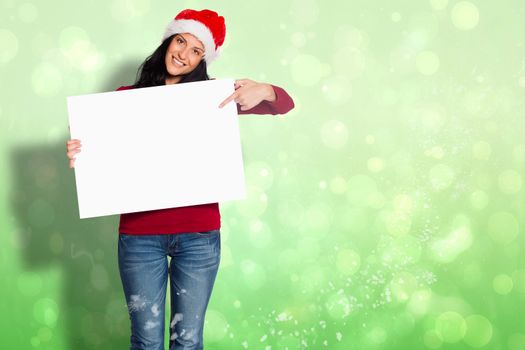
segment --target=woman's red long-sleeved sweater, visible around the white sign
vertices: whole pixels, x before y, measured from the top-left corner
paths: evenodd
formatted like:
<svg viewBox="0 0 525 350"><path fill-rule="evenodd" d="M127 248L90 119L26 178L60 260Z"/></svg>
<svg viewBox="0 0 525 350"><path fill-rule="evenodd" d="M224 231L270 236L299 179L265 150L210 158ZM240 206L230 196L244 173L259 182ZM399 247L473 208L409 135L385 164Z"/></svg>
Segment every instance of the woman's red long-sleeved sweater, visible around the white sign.
<svg viewBox="0 0 525 350"><path fill-rule="evenodd" d="M275 91L275 101L262 101L246 111L242 111L237 105L237 113L275 115L285 114L294 108L293 100L286 91L275 85L272 87ZM117 91L129 89L133 89L133 86L121 86ZM119 232L135 235L173 234L210 231L220 227L219 203L208 203L122 214Z"/></svg>

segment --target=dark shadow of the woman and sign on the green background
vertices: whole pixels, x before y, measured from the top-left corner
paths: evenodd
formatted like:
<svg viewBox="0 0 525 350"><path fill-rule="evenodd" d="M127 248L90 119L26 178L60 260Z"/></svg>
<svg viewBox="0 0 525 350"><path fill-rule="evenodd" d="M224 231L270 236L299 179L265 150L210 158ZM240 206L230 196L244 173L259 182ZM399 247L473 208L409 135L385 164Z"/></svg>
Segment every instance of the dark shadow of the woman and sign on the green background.
<svg viewBox="0 0 525 350"><path fill-rule="evenodd" d="M123 65L100 91L132 84L139 64ZM126 349L130 323L118 274L118 216L79 219L74 170L66 157L68 138L11 151L10 202L22 264L31 271L59 267L58 325L68 349Z"/></svg>

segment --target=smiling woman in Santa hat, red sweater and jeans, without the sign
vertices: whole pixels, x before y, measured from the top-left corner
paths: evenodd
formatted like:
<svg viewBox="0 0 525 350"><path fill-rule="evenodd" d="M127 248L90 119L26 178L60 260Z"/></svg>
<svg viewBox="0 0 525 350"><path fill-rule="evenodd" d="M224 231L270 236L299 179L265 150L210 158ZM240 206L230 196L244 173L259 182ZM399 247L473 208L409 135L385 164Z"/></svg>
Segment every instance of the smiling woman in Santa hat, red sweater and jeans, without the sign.
<svg viewBox="0 0 525 350"><path fill-rule="evenodd" d="M182 11L139 68L135 84L118 90L208 80L206 67L217 57L225 34L224 18L216 12ZM236 80L235 92L219 107L230 101L240 114L284 114L294 107L283 89L248 79ZM80 147L79 140L67 142L70 167ZM170 350L202 349L204 316L220 259L218 203L122 214L119 233L131 349L164 348L168 275Z"/></svg>

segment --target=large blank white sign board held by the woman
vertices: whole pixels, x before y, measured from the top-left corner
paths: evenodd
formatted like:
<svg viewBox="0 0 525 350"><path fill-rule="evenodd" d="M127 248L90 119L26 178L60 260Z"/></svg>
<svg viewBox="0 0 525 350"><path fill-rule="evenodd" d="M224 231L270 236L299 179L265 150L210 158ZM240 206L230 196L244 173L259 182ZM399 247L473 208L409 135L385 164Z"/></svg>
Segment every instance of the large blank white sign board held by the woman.
<svg viewBox="0 0 525 350"><path fill-rule="evenodd" d="M80 218L245 197L232 79L67 98Z"/></svg>

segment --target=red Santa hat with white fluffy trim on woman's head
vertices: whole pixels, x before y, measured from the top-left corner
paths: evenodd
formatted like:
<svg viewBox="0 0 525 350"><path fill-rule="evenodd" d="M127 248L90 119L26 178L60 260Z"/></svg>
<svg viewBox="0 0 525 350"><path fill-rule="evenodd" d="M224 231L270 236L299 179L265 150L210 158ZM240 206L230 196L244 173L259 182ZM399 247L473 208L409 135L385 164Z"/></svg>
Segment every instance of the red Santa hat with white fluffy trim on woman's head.
<svg viewBox="0 0 525 350"><path fill-rule="evenodd" d="M226 36L226 25L224 17L215 11L186 9L170 22L162 40L177 33L190 33L197 37L204 45L204 60L209 65L219 56Z"/></svg>

